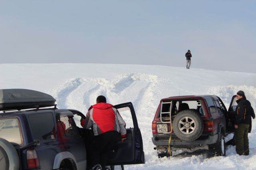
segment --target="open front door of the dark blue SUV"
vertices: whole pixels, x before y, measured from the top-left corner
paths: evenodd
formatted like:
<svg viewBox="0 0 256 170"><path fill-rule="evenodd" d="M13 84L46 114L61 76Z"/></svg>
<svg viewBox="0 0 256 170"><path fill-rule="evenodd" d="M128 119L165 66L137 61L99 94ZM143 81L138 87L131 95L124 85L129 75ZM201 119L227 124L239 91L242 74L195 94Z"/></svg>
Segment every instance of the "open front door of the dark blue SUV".
<svg viewBox="0 0 256 170"><path fill-rule="evenodd" d="M117 150L108 156L108 165L144 164L142 136L131 102L115 105L126 123L126 140L118 141Z"/></svg>

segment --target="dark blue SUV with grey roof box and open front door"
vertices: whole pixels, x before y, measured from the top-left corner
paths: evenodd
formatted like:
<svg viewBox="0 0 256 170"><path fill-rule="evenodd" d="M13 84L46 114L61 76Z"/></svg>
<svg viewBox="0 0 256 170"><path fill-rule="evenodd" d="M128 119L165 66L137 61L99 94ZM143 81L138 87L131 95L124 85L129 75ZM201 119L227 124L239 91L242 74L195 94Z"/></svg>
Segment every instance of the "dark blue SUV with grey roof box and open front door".
<svg viewBox="0 0 256 170"><path fill-rule="evenodd" d="M0 90L1 170L86 170L86 154L93 136L80 126L85 116L72 109L57 109L55 99L27 89ZM47 107L47 108L46 108ZM143 164L142 137L132 103L114 106L126 121L127 140L110 152L111 169ZM124 154L125 153L125 154Z"/></svg>

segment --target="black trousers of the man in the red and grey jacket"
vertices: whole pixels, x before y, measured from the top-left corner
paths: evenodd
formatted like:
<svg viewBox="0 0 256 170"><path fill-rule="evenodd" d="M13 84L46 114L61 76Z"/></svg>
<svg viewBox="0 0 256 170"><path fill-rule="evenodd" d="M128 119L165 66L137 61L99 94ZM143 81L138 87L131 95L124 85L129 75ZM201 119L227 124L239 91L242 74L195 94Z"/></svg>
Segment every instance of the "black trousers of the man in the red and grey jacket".
<svg viewBox="0 0 256 170"><path fill-rule="evenodd" d="M92 165L100 164L104 170L107 162L107 156L110 151L116 149L116 143L120 138L117 131L108 131L94 136L94 145L92 152Z"/></svg>

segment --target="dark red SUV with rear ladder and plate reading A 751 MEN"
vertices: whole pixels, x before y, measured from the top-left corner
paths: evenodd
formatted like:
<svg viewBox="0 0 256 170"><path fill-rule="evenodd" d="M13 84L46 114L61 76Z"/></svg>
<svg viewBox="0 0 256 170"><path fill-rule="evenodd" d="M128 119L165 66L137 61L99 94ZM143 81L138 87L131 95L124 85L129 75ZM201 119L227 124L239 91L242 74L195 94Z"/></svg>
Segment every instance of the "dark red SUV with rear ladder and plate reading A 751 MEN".
<svg viewBox="0 0 256 170"><path fill-rule="evenodd" d="M225 143L233 138L236 97L227 111L215 95L176 96L160 101L152 121L152 141L158 157L182 150L210 150L225 156Z"/></svg>

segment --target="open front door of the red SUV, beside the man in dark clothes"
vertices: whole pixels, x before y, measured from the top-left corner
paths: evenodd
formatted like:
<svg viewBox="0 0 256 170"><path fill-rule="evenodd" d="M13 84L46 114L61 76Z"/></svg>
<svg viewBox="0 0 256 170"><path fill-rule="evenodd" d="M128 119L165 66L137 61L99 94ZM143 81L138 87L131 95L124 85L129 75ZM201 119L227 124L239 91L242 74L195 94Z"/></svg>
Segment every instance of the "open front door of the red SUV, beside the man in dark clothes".
<svg viewBox="0 0 256 170"><path fill-rule="evenodd" d="M236 106L237 106L237 98L234 95L231 99L229 108L228 108L228 130L231 132L235 131L234 122L236 120Z"/></svg>

